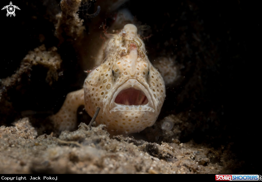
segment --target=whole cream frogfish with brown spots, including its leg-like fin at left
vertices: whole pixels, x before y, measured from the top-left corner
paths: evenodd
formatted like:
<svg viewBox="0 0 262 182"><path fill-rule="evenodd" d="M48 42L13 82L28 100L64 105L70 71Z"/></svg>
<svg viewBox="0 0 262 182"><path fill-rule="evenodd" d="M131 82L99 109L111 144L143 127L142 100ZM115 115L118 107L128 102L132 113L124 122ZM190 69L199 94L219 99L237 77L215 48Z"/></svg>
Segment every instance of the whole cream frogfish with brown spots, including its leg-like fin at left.
<svg viewBox="0 0 262 182"><path fill-rule="evenodd" d="M100 63L85 79L84 88L67 95L61 110L51 116L59 130L76 124L76 111L85 105L97 124L112 134L129 134L152 126L165 100L162 76L148 60L137 27L127 24L107 40L97 56Z"/></svg>

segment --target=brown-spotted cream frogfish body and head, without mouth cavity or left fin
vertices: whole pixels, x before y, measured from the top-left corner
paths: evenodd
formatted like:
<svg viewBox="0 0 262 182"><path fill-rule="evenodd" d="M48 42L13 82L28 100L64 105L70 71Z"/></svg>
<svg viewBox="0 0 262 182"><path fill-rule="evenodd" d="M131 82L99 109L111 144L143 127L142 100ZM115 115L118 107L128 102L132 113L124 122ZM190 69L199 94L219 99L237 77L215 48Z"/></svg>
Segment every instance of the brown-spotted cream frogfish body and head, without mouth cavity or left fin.
<svg viewBox="0 0 262 182"><path fill-rule="evenodd" d="M124 26L119 35L108 40L103 52L103 56L98 56L103 63L84 83L85 110L93 116L99 106L96 122L107 125L113 133L136 133L152 126L166 96L165 85L145 54L136 26ZM129 87L146 92L150 97L148 104L128 106L111 102L114 95Z"/></svg>

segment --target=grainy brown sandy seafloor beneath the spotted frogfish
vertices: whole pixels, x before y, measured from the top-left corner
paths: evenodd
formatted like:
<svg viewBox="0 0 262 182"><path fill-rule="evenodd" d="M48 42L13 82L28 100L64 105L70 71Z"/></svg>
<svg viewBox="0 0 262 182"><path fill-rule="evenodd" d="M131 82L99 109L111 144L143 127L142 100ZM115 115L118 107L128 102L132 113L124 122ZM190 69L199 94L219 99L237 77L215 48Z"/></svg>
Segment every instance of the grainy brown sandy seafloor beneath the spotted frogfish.
<svg viewBox="0 0 262 182"><path fill-rule="evenodd" d="M198 145L109 138L103 125L84 123L59 137L40 135L28 118L0 128L1 173L231 173L231 152Z"/></svg>

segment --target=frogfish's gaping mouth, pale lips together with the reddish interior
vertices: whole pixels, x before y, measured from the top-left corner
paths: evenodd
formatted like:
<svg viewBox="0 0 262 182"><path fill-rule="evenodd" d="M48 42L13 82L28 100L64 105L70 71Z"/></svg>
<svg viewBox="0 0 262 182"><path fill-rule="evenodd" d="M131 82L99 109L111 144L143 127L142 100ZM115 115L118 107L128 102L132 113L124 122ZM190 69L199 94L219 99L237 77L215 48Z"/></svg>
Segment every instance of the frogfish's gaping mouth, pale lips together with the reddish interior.
<svg viewBox="0 0 262 182"><path fill-rule="evenodd" d="M116 89L111 98L109 112L117 111L154 112L152 96L138 80L129 79Z"/></svg>

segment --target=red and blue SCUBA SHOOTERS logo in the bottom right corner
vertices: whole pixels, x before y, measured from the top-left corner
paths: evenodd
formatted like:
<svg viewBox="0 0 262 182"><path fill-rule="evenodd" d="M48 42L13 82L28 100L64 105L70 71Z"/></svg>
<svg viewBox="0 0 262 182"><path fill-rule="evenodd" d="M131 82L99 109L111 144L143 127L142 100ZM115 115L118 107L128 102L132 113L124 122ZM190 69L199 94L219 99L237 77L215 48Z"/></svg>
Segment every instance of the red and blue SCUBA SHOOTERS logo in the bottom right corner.
<svg viewBox="0 0 262 182"><path fill-rule="evenodd" d="M215 179L216 181L261 181L259 175L216 175Z"/></svg>

